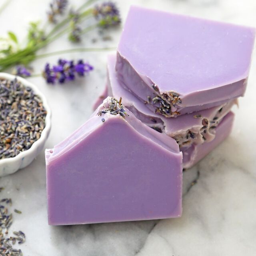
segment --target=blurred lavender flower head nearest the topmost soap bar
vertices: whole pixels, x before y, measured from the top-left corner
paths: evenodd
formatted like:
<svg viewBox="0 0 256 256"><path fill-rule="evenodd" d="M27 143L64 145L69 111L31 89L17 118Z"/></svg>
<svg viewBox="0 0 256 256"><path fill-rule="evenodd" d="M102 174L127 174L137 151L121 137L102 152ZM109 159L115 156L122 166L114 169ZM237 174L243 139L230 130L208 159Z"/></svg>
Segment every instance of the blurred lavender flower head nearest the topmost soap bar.
<svg viewBox="0 0 256 256"><path fill-rule="evenodd" d="M98 26L102 28L116 26L121 23L119 10L113 2L104 2L96 5L92 12L98 20Z"/></svg>

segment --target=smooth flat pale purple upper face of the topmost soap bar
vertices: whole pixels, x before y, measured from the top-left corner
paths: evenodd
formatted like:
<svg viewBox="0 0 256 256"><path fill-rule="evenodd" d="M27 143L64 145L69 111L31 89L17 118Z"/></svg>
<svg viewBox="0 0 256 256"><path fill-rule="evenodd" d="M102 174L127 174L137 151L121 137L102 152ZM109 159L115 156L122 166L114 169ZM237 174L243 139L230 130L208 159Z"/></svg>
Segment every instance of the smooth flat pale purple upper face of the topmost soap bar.
<svg viewBox="0 0 256 256"><path fill-rule="evenodd" d="M180 95L248 76L255 30L132 6L118 45L162 92Z"/></svg>

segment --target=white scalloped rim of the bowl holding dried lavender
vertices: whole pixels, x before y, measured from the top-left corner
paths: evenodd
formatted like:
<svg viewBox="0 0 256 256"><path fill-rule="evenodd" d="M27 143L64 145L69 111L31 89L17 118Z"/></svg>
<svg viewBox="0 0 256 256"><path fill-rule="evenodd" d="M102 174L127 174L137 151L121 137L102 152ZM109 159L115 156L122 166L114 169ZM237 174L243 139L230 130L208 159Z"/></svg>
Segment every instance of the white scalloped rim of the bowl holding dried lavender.
<svg viewBox="0 0 256 256"><path fill-rule="evenodd" d="M24 86L28 86L28 87L32 88L32 90L35 92L35 94L38 95L41 98L43 106L47 111L47 114L46 114L46 118L45 118L45 127L42 130L41 136L38 140L36 140L32 144L31 148L29 148L28 150L20 152L17 156L14 156L14 157L11 157L11 158L1 159L0 160L0 166L4 165L4 164L8 164L10 162L23 160L26 156L28 156L30 154L30 152L35 150L37 146L40 146L41 142L43 142L47 139L48 134L50 132L50 128L51 128L51 120L50 119L51 119L51 115L52 115L50 107L47 103L46 97L44 96L44 94L42 94L42 92L40 92L40 90L37 88L37 86L35 86L31 82L29 82L28 80L26 80L25 78L22 78L20 76L0 72L0 79L2 79L2 78L6 79L6 80L14 80L16 78L19 82L24 84Z"/></svg>

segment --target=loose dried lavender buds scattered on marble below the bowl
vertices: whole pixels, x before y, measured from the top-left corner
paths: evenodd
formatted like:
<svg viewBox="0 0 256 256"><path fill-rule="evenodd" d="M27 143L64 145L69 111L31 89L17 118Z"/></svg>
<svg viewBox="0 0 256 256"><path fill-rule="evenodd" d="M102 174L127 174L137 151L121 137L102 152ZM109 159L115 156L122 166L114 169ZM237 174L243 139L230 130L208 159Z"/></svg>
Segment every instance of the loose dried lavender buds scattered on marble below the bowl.
<svg viewBox="0 0 256 256"><path fill-rule="evenodd" d="M0 188L0 192L4 188ZM8 205L12 204L10 198L2 199L0 204L0 255L1 256L22 256L22 251L20 249L15 249L12 246L18 242L18 244L23 244L25 242L25 234L22 231L14 231L14 236L8 236L8 230L12 225L13 217L12 214L8 215ZM2 205L6 204L6 206ZM14 212L20 214L19 210L14 210ZM5 231L4 231L5 230Z"/></svg>

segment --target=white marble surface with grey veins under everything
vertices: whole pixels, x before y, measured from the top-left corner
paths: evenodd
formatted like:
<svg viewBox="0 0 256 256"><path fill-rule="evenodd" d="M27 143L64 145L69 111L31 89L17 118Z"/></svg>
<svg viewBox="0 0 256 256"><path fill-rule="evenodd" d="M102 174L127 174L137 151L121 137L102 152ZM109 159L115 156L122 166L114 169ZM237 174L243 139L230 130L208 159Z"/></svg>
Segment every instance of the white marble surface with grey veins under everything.
<svg viewBox="0 0 256 256"><path fill-rule="evenodd" d="M0 4L4 2L0 0ZM24 37L26 24L44 19L48 1L12 0L0 14L0 35L6 31ZM73 1L79 4L82 0ZM256 26L254 0L119 0L123 19L130 4ZM116 46L98 40L94 46ZM91 45L97 33L84 38ZM72 47L65 38L44 49L50 52ZM13 228L26 233L20 248L26 256L254 256L256 255L256 52L246 96L240 100L231 136L198 165L184 173L183 214L178 219L140 222L57 226L47 224L44 152L28 167L0 178L11 197L16 214ZM49 86L40 77L30 78L46 95L52 108L52 131L46 144L51 148L87 120L96 95L104 86L106 53L72 53L65 58L84 58L94 72L74 84ZM46 61L34 62L36 71ZM197 184L191 182L200 173ZM189 191L188 191L189 190Z"/></svg>

